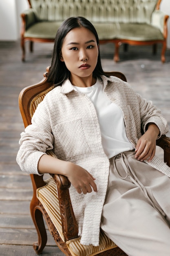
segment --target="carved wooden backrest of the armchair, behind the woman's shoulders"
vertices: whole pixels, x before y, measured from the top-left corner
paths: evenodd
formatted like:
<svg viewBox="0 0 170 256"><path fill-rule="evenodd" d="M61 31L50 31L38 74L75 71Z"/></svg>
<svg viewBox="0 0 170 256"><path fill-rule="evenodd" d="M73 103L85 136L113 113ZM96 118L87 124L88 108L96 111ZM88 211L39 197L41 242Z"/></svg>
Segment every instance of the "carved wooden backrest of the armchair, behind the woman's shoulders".
<svg viewBox="0 0 170 256"><path fill-rule="evenodd" d="M47 76L49 67L46 68L44 73L44 79L39 83L27 86L19 95L19 107L24 122L24 126L31 124L31 118L38 106L38 104L44 99L45 95L53 89L52 83L47 83ZM126 76L121 72L105 72L106 76L117 76L123 81L126 81Z"/></svg>

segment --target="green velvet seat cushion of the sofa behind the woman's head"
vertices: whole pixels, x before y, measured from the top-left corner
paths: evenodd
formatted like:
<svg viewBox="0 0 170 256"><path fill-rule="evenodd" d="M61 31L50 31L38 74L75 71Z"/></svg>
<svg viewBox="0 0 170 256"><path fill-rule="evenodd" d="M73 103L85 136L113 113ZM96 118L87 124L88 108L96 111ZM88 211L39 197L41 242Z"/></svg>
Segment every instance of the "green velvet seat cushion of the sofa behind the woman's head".
<svg viewBox="0 0 170 256"><path fill-rule="evenodd" d="M57 29L62 22L37 22L26 30L25 37L54 39ZM163 40L163 35L157 27L139 23L98 23L93 25L97 30L99 40L127 39L127 40Z"/></svg>

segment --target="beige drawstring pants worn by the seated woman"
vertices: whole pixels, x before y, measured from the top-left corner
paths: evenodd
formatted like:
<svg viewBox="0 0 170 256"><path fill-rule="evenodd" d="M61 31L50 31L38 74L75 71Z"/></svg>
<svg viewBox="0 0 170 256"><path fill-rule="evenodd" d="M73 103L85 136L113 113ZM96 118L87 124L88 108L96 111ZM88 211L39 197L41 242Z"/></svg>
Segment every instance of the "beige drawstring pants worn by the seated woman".
<svg viewBox="0 0 170 256"><path fill-rule="evenodd" d="M129 256L170 256L170 178L133 151L110 159L101 228Z"/></svg>

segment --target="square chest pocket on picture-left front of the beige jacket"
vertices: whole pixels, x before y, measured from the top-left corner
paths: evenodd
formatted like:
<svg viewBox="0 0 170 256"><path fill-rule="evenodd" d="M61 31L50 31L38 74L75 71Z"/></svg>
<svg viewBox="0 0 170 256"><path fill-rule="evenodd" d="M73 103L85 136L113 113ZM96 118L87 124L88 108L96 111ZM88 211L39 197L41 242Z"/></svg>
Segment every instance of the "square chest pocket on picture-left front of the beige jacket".
<svg viewBox="0 0 170 256"><path fill-rule="evenodd" d="M55 126L57 148L66 158L89 153L82 119L75 119Z"/></svg>

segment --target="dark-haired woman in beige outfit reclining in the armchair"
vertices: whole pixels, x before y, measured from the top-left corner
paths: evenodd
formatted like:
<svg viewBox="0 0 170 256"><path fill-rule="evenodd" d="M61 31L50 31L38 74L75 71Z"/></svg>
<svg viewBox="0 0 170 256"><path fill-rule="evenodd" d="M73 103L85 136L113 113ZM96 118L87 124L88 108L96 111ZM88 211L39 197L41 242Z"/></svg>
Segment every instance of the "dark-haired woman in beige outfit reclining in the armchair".
<svg viewBox="0 0 170 256"><path fill-rule="evenodd" d="M129 256L169 256L170 168L155 156L168 132L160 111L104 76L97 32L83 17L58 29L48 80L55 88L21 134L22 171L68 177L82 244L97 246L102 228Z"/></svg>

